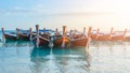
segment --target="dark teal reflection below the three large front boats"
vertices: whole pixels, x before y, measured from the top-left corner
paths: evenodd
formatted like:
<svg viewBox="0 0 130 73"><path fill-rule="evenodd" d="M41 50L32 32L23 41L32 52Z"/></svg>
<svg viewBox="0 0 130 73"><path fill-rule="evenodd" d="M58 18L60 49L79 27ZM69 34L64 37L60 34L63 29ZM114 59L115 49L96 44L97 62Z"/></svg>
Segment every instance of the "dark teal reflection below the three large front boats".
<svg viewBox="0 0 130 73"><path fill-rule="evenodd" d="M90 68L86 48L34 48L30 55L34 73L86 73Z"/></svg>

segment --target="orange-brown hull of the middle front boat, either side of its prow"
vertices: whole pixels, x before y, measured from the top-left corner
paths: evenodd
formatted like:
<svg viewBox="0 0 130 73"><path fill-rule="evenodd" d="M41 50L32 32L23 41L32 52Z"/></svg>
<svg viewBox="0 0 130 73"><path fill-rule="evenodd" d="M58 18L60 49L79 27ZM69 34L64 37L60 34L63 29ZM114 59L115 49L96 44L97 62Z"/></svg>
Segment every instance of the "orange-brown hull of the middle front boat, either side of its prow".
<svg viewBox="0 0 130 73"><path fill-rule="evenodd" d="M69 39L65 38L65 47L67 47L67 45L69 44ZM63 43L63 38L57 38L53 41L54 47L62 47L62 43Z"/></svg>

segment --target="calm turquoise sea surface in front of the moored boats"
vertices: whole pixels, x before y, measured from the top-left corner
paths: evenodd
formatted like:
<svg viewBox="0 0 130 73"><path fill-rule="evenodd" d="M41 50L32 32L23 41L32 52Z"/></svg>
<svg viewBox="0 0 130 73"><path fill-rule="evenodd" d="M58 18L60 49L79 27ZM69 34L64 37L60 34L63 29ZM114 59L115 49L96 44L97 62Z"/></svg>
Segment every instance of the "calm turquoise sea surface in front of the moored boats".
<svg viewBox="0 0 130 73"><path fill-rule="evenodd" d="M36 48L24 41L0 43L0 73L129 72L130 42L91 42L90 49Z"/></svg>

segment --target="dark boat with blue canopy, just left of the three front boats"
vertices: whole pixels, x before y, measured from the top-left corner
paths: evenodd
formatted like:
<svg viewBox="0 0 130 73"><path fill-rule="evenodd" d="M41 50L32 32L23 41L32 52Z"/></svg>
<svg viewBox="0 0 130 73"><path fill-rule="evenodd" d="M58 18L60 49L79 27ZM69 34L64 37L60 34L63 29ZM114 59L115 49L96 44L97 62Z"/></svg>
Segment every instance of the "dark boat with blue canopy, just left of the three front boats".
<svg viewBox="0 0 130 73"><path fill-rule="evenodd" d="M29 41L31 39L31 28L29 30L21 30L16 28L17 31L17 39L18 40L24 40L24 41Z"/></svg>

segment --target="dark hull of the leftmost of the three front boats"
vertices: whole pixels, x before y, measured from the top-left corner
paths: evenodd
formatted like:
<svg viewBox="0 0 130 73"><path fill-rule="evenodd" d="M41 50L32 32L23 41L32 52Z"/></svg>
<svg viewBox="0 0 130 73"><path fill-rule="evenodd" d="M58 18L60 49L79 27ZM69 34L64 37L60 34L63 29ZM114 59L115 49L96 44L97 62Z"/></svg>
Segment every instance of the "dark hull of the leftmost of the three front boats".
<svg viewBox="0 0 130 73"><path fill-rule="evenodd" d="M35 44L35 46L37 46L37 38L32 40L32 43ZM39 46L40 47L48 47L49 41L39 38Z"/></svg>

